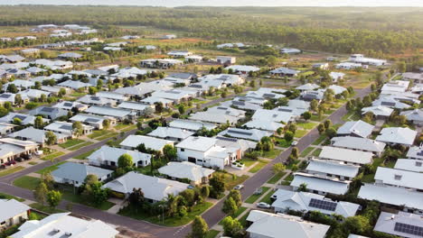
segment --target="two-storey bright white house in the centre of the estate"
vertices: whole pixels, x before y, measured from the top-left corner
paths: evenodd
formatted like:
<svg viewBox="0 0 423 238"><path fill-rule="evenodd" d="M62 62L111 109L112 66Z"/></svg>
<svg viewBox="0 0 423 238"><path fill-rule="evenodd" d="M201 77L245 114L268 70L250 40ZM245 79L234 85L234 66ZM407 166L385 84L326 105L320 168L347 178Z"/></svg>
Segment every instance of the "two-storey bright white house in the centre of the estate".
<svg viewBox="0 0 423 238"><path fill-rule="evenodd" d="M209 168L223 169L237 160L237 151L217 145L217 139L190 136L176 144L178 159Z"/></svg>

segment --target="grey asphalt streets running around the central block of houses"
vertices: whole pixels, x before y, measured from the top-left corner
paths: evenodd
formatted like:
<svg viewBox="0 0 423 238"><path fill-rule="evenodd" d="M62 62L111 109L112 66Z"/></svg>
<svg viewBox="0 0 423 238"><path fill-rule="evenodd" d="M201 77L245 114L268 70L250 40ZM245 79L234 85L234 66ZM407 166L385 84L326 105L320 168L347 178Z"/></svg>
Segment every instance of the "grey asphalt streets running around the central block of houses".
<svg viewBox="0 0 423 238"><path fill-rule="evenodd" d="M371 92L370 87L356 90L356 97L365 96ZM218 102L225 100L225 98L219 98L213 100L207 105L213 105ZM339 108L334 114L331 114L328 119L331 119L334 124L342 123L342 116L346 114L347 111L345 106ZM131 133L135 133L136 130L127 132L125 136ZM311 145L319 137L319 134L316 129L312 130L310 133L307 133L302 139L298 141L297 148L299 151L305 150L309 145ZM94 150L100 146L106 144L107 140L102 142L97 142L90 144L87 147L81 148L78 151L72 151L66 155L61 156L58 160L68 160L72 157L79 155L81 153ZM273 164L281 161L287 160L287 157L291 153L291 149L283 151L277 156L275 160L272 160L268 163L266 167L260 169L254 176L250 177L244 182L245 188L242 189L241 195L245 199L252 195L256 188L259 188L268 181L269 178L273 176L271 168ZM14 174L0 178L0 191L6 194L14 195L16 197L23 197L25 199L33 200L33 192L24 188L17 188L12 185L12 182L15 178L22 177L31 172L35 172L39 169L46 168L51 166L50 162L44 162L41 164L34 165L28 169L18 171ZM62 201L59 208L65 208L67 201ZM221 212L221 206L223 204L223 199L218 202L215 206L212 206L208 211L206 211L202 217L206 220L207 224L211 227L214 224L217 224L225 215ZM109 214L105 211L99 209L91 208L89 206L83 206L80 204L72 204L71 212L81 216L87 216L94 219L102 220L109 224L117 224L120 226L127 227L131 230L134 230L139 233L145 233L146 237L185 237L187 233L191 231L191 225L184 225L182 227L164 227L156 224L150 224L145 221L135 220L126 216Z"/></svg>

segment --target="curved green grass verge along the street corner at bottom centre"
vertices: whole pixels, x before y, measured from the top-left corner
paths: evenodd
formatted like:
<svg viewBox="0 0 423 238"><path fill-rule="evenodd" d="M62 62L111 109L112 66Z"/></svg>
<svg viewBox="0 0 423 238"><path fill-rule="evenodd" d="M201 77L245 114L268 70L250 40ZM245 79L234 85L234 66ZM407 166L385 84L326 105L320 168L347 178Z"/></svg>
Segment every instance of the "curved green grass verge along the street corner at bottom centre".
<svg viewBox="0 0 423 238"><path fill-rule="evenodd" d="M183 224L189 224L191 221L193 221L193 218L196 215L202 215L204 211L209 209L213 204L209 202L205 202L196 206L193 206L191 209L191 212L188 213L188 215L184 217L166 217L164 216L164 224L162 224L162 217L161 215L157 216L150 216L146 213L136 213L135 209L127 206L119 211L119 215L126 215L129 217L132 217L137 220L145 220L147 222L153 223L153 224L160 224L164 226L180 226Z"/></svg>

